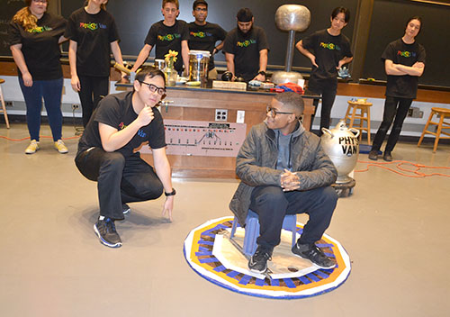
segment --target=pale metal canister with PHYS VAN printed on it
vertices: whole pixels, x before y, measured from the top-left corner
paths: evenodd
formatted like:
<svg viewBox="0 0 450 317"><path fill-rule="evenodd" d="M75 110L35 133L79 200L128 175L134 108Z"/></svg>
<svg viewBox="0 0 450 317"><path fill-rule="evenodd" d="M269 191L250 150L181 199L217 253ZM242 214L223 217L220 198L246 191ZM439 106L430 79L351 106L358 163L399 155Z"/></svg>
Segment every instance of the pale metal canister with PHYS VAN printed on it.
<svg viewBox="0 0 450 317"><path fill-rule="evenodd" d="M322 148L333 161L338 169L338 180L336 183L344 184L351 182L350 174L356 167L359 156L359 131L348 129L346 122L341 120L332 130L322 128Z"/></svg>

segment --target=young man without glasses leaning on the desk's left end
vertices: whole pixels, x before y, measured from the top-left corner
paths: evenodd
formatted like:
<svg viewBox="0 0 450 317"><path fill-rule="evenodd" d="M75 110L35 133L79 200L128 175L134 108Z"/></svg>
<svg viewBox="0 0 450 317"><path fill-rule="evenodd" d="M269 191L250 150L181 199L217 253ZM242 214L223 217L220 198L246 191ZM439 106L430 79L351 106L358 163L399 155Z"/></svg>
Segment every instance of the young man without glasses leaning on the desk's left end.
<svg viewBox="0 0 450 317"><path fill-rule="evenodd" d="M154 23L148 30L145 45L139 51L138 59L131 71L136 71L147 59L151 49L156 45L155 59L164 59L169 50L178 52L175 69L178 73L189 73L189 28L183 20L176 20L180 14L178 0L163 0L161 12L164 20Z"/></svg>

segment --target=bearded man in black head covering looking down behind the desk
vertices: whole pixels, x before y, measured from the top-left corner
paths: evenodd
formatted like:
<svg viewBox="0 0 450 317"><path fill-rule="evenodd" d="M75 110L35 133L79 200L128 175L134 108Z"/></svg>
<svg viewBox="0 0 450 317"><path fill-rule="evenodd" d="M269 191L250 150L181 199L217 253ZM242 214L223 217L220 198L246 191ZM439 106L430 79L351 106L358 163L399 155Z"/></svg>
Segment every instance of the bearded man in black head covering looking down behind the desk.
<svg viewBox="0 0 450 317"><path fill-rule="evenodd" d="M250 9L240 9L236 17L238 27L227 34L223 44L227 70L233 74L232 80L243 77L245 81L265 81L269 51L266 32L253 25Z"/></svg>

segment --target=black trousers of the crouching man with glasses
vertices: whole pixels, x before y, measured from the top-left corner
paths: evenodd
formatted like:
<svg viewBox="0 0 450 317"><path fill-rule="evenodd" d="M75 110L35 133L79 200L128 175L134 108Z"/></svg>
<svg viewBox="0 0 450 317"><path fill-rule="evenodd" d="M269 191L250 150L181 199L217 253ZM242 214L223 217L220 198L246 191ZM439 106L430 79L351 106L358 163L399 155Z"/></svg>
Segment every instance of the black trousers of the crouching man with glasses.
<svg viewBox="0 0 450 317"><path fill-rule="evenodd" d="M121 204L157 199L164 186L139 153L125 158L119 152L86 149L76 155L76 167L87 179L97 182L100 215L123 219Z"/></svg>

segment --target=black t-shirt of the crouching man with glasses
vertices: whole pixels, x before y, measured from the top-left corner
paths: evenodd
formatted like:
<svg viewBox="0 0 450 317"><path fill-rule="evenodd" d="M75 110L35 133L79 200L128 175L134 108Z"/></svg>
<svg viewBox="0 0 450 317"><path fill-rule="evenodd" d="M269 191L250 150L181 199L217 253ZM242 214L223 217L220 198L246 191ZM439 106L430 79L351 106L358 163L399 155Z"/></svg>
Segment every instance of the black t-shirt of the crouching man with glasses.
<svg viewBox="0 0 450 317"><path fill-rule="evenodd" d="M92 147L102 148L102 140L98 131L98 123L102 122L118 131L126 128L131 122L138 118L138 113L134 112L132 105L133 92L107 95L98 104L91 120L87 123L81 140L78 143L78 153ZM139 129L138 133L117 152L129 157L133 154L133 149L148 141L151 149L160 149L166 146L166 136L161 113L156 107L153 108L154 118L146 126Z"/></svg>

